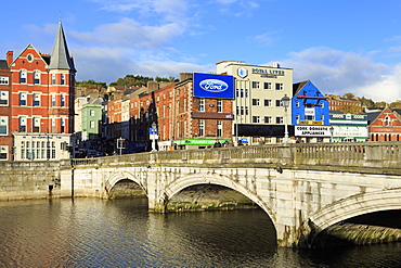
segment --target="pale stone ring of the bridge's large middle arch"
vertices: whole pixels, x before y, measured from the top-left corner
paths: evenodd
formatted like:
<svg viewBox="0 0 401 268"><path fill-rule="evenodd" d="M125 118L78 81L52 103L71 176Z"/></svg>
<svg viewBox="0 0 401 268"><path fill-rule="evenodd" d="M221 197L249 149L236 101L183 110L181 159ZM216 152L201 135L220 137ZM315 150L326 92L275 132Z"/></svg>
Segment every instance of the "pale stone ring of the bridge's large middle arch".
<svg viewBox="0 0 401 268"><path fill-rule="evenodd" d="M224 175L217 174L191 174L177 178L171 183L167 184L164 192L164 199L166 201L171 200L172 196L178 194L185 188L196 184L217 184L230 188L234 191L237 191L244 194L246 197L259 205L270 217L275 226L275 214L272 209L262 201L260 196L255 194L251 190L246 188L244 184L236 182L235 180L230 179Z"/></svg>

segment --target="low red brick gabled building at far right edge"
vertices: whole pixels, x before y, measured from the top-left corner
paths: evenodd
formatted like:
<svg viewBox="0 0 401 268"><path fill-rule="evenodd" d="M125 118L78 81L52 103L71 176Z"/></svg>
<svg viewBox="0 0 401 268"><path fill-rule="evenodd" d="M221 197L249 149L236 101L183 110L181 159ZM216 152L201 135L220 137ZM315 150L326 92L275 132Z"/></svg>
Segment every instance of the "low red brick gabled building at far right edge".
<svg viewBox="0 0 401 268"><path fill-rule="evenodd" d="M389 107L367 113L370 141L401 141L401 120Z"/></svg>

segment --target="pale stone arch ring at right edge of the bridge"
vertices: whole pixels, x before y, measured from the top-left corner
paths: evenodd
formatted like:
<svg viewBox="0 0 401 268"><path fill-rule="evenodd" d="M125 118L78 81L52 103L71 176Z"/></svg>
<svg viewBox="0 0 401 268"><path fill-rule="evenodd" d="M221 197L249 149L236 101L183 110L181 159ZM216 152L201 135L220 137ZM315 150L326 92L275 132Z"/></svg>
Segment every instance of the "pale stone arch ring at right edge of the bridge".
<svg viewBox="0 0 401 268"><path fill-rule="evenodd" d="M312 214L303 226L308 226L311 232L308 240L312 242L321 231L342 220L392 209L401 209L400 188L360 193L336 201Z"/></svg>

